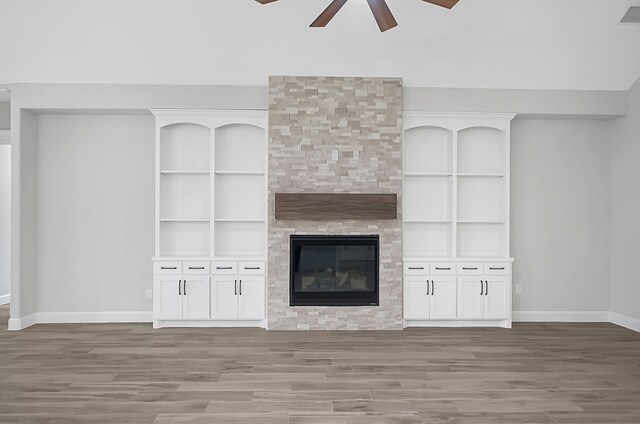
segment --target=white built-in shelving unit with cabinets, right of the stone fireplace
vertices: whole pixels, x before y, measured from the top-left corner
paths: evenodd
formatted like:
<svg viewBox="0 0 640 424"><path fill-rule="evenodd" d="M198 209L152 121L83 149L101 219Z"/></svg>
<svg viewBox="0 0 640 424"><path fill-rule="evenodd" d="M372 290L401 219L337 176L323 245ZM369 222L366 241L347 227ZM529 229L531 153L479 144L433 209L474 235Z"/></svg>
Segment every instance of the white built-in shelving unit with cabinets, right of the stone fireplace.
<svg viewBox="0 0 640 424"><path fill-rule="evenodd" d="M489 270L492 268L486 264L495 261L511 263L509 139L513 117L512 114L405 113L403 246L405 264L411 264L405 270L407 325L433 325L433 320L440 320L440 324L442 320L460 324L462 318L472 315L465 312L470 304L466 288L471 287L470 282L476 278L466 277L463 284L460 278L466 275L464 270ZM440 266L434 268L434 263ZM510 281L510 265L508 268L504 275L508 275ZM418 269L421 271L411 271ZM447 271L439 271L443 269ZM482 271L476 274L484 291L489 279ZM507 278L501 275L501 279ZM492 284L506 287L503 280ZM436 296L434 301L430 291L438 286L445 288L440 289L440 293L444 291L448 295ZM464 290L452 296L456 287ZM510 296L510 283L508 290ZM479 288L475 291L481 292ZM446 313L429 314L412 303L420 292L431 299L417 302L430 303L431 307ZM474 293L471 289L468 292ZM507 297L505 294L500 302L506 302ZM479 302L478 299L473 302ZM492 299L493 308L496 300ZM508 314L492 311L482 315L482 319L491 318L499 325L510 325L510 297L508 302L508 307L500 305Z"/></svg>

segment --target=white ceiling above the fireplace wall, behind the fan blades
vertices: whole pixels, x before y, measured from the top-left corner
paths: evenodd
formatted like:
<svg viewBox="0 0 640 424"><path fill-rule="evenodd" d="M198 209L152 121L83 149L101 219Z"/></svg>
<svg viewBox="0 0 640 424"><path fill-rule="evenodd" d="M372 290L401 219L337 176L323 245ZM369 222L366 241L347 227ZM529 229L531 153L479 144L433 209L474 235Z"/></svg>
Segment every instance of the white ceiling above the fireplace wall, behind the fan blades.
<svg viewBox="0 0 640 424"><path fill-rule="evenodd" d="M640 76L640 0L0 0L0 84L266 85L268 75L398 76L406 86L627 90Z"/></svg>

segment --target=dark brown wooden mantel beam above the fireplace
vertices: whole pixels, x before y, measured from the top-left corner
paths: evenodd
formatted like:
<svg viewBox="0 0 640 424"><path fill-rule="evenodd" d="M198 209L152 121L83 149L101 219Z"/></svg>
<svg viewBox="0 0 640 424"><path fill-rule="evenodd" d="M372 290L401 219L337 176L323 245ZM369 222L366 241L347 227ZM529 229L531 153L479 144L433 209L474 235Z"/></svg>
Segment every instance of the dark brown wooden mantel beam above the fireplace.
<svg viewBox="0 0 640 424"><path fill-rule="evenodd" d="M276 219L397 219L397 194L276 193Z"/></svg>

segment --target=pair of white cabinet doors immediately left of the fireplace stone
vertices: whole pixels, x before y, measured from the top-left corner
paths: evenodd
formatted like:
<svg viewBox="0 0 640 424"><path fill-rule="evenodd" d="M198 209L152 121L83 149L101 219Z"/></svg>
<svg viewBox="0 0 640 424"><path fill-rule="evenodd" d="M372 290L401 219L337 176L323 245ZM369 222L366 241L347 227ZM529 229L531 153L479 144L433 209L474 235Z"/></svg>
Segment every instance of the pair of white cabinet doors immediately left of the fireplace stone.
<svg viewBox="0 0 640 424"><path fill-rule="evenodd" d="M265 278L255 275L211 277L211 318L261 320L265 312Z"/></svg>

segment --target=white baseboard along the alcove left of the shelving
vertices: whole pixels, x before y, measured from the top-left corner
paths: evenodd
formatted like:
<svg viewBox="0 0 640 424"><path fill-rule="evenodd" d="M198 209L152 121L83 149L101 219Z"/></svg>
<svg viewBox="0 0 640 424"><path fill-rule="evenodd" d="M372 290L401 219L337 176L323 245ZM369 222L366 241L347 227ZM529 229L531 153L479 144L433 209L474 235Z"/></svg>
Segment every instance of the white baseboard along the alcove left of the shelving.
<svg viewBox="0 0 640 424"><path fill-rule="evenodd" d="M96 324L115 322L151 323L149 312L36 312L23 318L9 319L9 330L22 330L34 324Z"/></svg>

